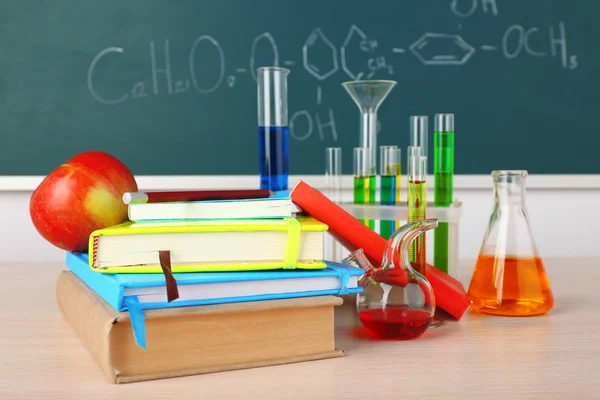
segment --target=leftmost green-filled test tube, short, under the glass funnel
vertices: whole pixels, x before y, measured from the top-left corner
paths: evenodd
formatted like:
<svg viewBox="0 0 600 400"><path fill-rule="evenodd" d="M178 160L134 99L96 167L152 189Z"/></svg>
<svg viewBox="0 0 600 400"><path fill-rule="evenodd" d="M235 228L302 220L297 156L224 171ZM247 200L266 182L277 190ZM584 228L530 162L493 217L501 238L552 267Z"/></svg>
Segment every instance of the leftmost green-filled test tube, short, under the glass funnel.
<svg viewBox="0 0 600 400"><path fill-rule="evenodd" d="M354 148L354 204L374 204L377 179L368 147ZM375 230L375 220L360 220Z"/></svg>

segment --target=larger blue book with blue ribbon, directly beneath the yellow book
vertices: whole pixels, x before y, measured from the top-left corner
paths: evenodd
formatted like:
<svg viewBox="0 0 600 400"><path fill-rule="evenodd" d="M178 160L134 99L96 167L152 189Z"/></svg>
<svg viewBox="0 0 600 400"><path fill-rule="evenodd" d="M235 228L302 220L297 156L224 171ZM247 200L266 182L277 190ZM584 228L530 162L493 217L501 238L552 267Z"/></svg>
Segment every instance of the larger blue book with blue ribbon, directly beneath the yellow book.
<svg viewBox="0 0 600 400"><path fill-rule="evenodd" d="M135 341L144 349L144 310L359 293L358 279L364 274L330 261L319 270L176 273L179 298L168 302L163 274L98 273L90 268L86 253L67 252L66 264L111 307L129 312Z"/></svg>

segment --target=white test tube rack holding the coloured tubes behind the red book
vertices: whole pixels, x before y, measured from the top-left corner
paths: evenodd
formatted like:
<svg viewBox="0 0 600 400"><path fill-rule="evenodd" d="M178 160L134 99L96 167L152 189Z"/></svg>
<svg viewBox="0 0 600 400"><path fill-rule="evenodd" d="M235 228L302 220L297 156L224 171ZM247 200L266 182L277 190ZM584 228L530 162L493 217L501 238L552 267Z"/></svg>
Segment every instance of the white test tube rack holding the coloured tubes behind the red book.
<svg viewBox="0 0 600 400"><path fill-rule="evenodd" d="M379 205L379 204L353 204L347 202L338 203L346 212L360 220L375 221L399 221L404 225L408 221L408 207L406 205ZM459 223L462 217L463 207L459 201L454 201L450 206L435 206L433 202L427 203L427 217L437 218L439 223L448 223L448 274L460 279L459 271ZM376 231L378 229L376 224ZM377 231L378 232L378 231ZM427 262L433 265L433 230L427 235Z"/></svg>

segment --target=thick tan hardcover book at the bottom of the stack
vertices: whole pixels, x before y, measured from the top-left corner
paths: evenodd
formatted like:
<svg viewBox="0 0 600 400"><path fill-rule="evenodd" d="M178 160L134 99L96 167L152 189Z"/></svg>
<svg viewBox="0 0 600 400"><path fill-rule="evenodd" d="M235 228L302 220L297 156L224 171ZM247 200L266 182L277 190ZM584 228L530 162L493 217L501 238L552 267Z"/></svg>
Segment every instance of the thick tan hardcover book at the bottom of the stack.
<svg viewBox="0 0 600 400"><path fill-rule="evenodd" d="M56 297L65 319L113 383L344 355L334 342L339 297L147 310L147 350L134 342L129 313L116 311L72 272L59 275Z"/></svg>

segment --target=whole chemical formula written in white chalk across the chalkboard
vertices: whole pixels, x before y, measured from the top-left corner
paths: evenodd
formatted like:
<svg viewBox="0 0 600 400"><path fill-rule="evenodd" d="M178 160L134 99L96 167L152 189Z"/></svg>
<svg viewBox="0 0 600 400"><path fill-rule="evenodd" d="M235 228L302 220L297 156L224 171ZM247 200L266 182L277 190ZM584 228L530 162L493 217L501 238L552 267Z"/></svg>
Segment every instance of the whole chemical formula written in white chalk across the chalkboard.
<svg viewBox="0 0 600 400"><path fill-rule="evenodd" d="M246 65L229 65L227 49L210 34L190 37L189 50L184 57L181 54L172 57L169 38L149 40L140 46L147 48L147 68L150 71L147 75L150 78L132 81L128 90L109 95L95 79L96 70L101 64L118 63L118 58L126 58L131 50L110 46L99 49L90 60L87 85L95 100L111 106L157 96L210 95L217 90L234 90L241 79L256 80L256 68L260 66L257 63L259 47L263 51L267 49L268 65L302 68L310 75L315 82L314 99L319 107L325 97L323 84L326 81L332 78L394 79L407 62L407 57L414 57L423 68L460 67L476 57L493 57L497 62L506 63L530 58L537 60L534 62L544 62L544 68L554 65L565 71L573 71L579 66L577 55L569 53L567 27L563 21L545 26L508 24L498 32L495 41L480 43L477 36L463 34L461 24L477 14L498 18L501 3L496 0L450 0L446 4L449 15L457 20L456 32L423 32L420 36L406 38L395 36L397 45L384 48L380 44L381 38L372 37L359 24L350 23L339 43L335 43L324 28L316 27L307 31L301 48L286 48L285 51L280 49L277 38L271 32L262 32L248 39ZM139 50L135 49L137 53ZM239 49L236 48L235 52L239 53ZM178 60L177 68L174 68L174 59ZM206 63L216 65L217 73L210 76L203 74L202 65ZM178 72L175 73L175 70ZM337 141L332 109L317 112L296 110L290 114L289 125L290 135L295 140L318 137L320 140Z"/></svg>

